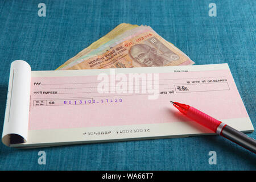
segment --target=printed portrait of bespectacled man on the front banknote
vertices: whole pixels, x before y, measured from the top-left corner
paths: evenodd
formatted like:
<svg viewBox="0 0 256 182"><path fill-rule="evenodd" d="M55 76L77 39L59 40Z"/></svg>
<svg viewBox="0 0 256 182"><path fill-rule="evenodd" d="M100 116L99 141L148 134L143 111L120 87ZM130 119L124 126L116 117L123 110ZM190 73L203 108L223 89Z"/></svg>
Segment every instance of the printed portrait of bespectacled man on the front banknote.
<svg viewBox="0 0 256 182"><path fill-rule="evenodd" d="M179 59L179 56L174 53L158 53L154 47L147 44L135 44L130 48L129 55L142 67L162 67Z"/></svg>

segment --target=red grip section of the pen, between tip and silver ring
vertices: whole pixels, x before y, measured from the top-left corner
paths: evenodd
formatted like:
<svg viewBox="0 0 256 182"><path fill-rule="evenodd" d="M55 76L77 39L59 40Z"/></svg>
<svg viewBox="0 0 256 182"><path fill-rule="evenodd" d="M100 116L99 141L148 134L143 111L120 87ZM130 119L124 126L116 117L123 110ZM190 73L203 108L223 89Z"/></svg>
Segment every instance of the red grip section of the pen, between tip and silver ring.
<svg viewBox="0 0 256 182"><path fill-rule="evenodd" d="M208 129L214 131L216 133L218 125L220 125L221 121L210 117L209 115L197 110L194 107L189 107L187 110L187 116L197 123L207 127Z"/></svg>

